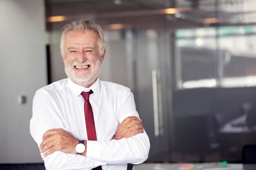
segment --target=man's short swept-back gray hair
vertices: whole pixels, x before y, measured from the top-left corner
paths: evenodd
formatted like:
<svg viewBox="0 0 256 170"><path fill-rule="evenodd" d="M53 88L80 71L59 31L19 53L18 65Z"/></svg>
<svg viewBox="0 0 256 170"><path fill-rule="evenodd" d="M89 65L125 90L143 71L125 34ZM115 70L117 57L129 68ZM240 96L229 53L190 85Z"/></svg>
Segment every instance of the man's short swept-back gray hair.
<svg viewBox="0 0 256 170"><path fill-rule="evenodd" d="M103 30L99 24L93 23L90 20L76 20L72 21L61 29L61 55L62 57L65 56L65 50L64 50L64 39L68 32L70 31L94 31L99 35L98 45L99 45L99 56L102 56L104 54L104 50L106 48L105 42L104 42L104 36L103 36Z"/></svg>

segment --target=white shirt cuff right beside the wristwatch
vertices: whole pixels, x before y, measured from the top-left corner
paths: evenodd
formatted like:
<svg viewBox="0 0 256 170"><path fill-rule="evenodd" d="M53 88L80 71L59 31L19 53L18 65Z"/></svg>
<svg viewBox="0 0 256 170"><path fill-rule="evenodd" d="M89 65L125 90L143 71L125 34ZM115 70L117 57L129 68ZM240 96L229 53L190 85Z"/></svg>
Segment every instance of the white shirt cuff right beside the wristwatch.
<svg viewBox="0 0 256 170"><path fill-rule="evenodd" d="M86 145L86 157L99 160L101 150L100 141L87 141Z"/></svg>

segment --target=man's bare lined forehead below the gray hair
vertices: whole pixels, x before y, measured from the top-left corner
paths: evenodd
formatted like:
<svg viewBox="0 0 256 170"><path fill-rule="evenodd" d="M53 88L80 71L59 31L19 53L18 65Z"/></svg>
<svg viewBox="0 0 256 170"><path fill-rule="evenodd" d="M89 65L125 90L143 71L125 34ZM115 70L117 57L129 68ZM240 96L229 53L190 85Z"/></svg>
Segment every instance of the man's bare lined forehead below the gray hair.
<svg viewBox="0 0 256 170"><path fill-rule="evenodd" d="M99 36L94 31L70 31L65 36L65 46L90 45L97 46Z"/></svg>

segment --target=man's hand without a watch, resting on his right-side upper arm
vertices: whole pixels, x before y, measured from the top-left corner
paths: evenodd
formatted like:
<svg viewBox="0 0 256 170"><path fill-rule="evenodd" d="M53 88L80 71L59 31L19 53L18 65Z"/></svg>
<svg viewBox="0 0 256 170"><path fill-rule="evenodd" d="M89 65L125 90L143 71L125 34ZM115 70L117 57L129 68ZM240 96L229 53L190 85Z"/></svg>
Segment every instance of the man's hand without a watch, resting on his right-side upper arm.
<svg viewBox="0 0 256 170"><path fill-rule="evenodd" d="M126 117L126 119L124 119L124 121L117 127L117 132L113 139L118 140L125 137L133 137L134 135L143 133L143 129L144 128L138 117Z"/></svg>

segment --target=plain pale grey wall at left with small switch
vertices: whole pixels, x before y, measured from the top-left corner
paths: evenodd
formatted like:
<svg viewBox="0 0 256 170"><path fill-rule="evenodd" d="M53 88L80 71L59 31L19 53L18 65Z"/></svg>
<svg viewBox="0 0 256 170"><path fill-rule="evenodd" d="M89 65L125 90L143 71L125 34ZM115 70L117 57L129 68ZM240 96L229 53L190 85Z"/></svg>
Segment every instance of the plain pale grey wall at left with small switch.
<svg viewBox="0 0 256 170"><path fill-rule="evenodd" d="M42 162L29 121L34 93L47 84L44 36L44 0L0 0L0 163Z"/></svg>

